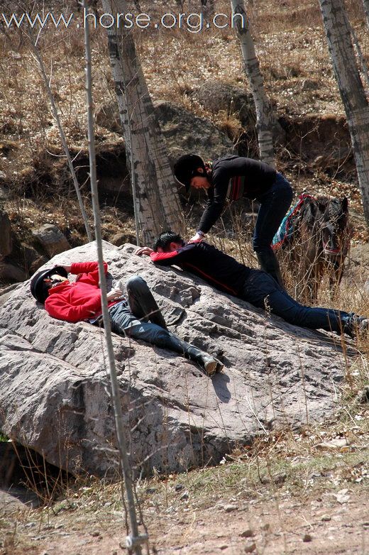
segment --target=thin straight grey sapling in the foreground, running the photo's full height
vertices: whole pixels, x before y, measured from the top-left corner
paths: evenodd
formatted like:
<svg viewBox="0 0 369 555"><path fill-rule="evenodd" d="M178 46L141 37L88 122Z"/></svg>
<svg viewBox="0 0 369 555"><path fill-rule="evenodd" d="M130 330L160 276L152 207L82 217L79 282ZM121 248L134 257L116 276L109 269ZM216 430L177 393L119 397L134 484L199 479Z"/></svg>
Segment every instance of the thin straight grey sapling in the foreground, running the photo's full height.
<svg viewBox="0 0 369 555"><path fill-rule="evenodd" d="M84 10L87 11L87 1L83 0L82 5ZM126 538L128 549L142 555L141 542L146 542L148 537L139 536L138 524L136 518L135 502L133 496L131 468L128 461L128 454L126 448L126 436L123 429L123 414L121 407L121 397L119 394L119 383L116 376L115 358L113 342L111 340L111 325L108 312L108 300L106 298L106 277L104 273L104 257L102 250L102 237L101 237L101 219L99 210L99 196L97 190L97 175L96 175L96 160L95 160L95 142L94 142L94 112L92 103L92 71L91 71L91 47L89 40L89 23L84 26L84 43L86 53L86 92L87 92L87 123L88 123L88 137L89 137L89 168L90 168L90 181L91 181L91 194L92 194L92 207L94 210L94 228L97 242L97 254L99 260L99 280L101 287L101 307L104 322L104 334L106 340L106 348L108 351L109 373L111 379L111 396L113 400L114 416L116 422L116 435L119 443L119 454L121 457L121 467L123 471L124 485L126 488L128 515L131 524L131 534Z"/></svg>

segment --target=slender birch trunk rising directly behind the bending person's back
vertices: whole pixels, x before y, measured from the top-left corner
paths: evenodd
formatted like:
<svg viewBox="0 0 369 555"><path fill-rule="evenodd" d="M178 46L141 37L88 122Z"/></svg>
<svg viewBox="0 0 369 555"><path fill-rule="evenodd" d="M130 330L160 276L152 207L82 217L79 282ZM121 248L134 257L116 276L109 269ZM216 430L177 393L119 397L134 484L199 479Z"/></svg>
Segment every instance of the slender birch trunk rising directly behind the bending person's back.
<svg viewBox="0 0 369 555"><path fill-rule="evenodd" d="M255 54L253 37L250 32L250 23L247 18L243 0L231 0L233 13L241 13L243 18L236 17L236 32L241 43L243 63L248 77L253 101L256 109L256 131L258 132L258 145L260 158L263 162L275 165L272 128L278 125L272 114L272 106L265 94L263 75L260 72L258 57Z"/></svg>

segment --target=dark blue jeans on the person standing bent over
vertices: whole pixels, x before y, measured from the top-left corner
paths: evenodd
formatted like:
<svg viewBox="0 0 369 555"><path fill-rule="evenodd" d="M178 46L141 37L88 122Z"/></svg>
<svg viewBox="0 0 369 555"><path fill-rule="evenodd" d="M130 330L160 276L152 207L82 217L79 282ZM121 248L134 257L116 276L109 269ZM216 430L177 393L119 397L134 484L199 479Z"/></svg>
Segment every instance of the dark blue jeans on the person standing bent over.
<svg viewBox="0 0 369 555"><path fill-rule="evenodd" d="M256 253L261 251L272 251L272 238L275 236L282 219L292 202L293 191L290 183L277 173L272 187L257 198L260 202L258 218L256 219L253 250Z"/></svg>

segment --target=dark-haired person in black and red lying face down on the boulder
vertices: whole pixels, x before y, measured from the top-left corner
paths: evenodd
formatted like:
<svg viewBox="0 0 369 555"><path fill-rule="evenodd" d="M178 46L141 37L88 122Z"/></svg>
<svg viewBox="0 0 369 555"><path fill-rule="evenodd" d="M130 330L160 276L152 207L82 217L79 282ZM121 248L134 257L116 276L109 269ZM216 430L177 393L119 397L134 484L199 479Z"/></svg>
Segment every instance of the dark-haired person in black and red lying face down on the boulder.
<svg viewBox="0 0 369 555"><path fill-rule="evenodd" d="M165 231L158 236L153 248L138 248L136 254L150 255L155 264L180 266L202 277L216 289L250 302L255 307L268 307L270 312L295 326L336 331L351 337L369 327L367 318L352 312L300 304L268 273L248 268L205 241L185 243L177 233Z"/></svg>

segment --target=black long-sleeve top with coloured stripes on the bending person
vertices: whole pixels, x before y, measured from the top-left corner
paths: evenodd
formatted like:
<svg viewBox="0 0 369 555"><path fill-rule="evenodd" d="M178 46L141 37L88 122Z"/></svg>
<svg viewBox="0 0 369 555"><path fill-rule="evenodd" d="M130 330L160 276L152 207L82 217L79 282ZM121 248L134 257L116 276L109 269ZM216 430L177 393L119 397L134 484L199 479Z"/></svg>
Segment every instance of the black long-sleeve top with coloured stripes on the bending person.
<svg viewBox="0 0 369 555"><path fill-rule="evenodd" d="M252 158L228 154L212 164L207 189L208 202L202 214L199 231L207 233L221 215L226 198L237 200L241 197L255 199L267 191L275 182L273 167Z"/></svg>

